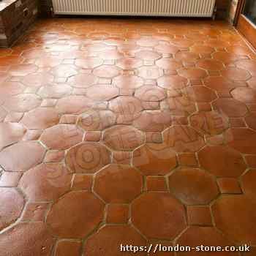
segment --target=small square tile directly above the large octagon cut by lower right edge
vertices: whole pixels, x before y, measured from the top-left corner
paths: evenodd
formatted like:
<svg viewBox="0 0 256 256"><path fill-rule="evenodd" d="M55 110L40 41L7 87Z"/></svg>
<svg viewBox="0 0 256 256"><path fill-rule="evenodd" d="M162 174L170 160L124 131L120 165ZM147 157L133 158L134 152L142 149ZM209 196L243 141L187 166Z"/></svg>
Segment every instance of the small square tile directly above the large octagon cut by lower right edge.
<svg viewBox="0 0 256 256"><path fill-rule="evenodd" d="M217 184L222 194L241 194L241 187L236 178L218 178Z"/></svg>

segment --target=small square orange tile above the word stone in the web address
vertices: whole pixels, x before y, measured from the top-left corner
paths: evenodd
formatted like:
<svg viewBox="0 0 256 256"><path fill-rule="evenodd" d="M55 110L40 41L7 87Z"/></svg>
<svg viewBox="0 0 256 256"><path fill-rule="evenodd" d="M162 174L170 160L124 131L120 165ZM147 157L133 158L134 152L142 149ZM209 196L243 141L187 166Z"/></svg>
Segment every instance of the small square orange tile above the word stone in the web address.
<svg viewBox="0 0 256 256"><path fill-rule="evenodd" d="M189 225L211 226L211 211L208 206L187 206Z"/></svg>

